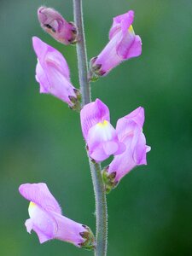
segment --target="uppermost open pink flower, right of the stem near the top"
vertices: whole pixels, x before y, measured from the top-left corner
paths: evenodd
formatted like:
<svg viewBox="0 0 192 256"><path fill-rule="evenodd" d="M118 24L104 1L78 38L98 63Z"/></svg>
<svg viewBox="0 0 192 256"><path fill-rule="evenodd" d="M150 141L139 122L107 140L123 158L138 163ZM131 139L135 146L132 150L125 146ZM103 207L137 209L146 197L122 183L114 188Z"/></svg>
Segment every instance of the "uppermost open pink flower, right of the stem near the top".
<svg viewBox="0 0 192 256"><path fill-rule="evenodd" d="M141 55L142 40L135 35L131 26L133 20L132 10L113 18L108 44L98 56L90 60L90 70L96 76L106 75L122 61Z"/></svg>

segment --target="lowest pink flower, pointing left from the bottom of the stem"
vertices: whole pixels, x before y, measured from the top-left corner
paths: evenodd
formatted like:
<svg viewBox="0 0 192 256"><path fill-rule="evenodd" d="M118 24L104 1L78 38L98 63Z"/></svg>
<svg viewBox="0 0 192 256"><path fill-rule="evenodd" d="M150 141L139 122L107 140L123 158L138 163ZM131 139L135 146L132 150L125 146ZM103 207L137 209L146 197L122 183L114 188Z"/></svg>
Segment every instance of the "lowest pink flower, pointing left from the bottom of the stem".
<svg viewBox="0 0 192 256"><path fill-rule="evenodd" d="M30 201L26 230L34 230L40 243L51 239L68 241L77 247L93 247L90 229L62 215L61 207L45 183L20 185L20 195Z"/></svg>

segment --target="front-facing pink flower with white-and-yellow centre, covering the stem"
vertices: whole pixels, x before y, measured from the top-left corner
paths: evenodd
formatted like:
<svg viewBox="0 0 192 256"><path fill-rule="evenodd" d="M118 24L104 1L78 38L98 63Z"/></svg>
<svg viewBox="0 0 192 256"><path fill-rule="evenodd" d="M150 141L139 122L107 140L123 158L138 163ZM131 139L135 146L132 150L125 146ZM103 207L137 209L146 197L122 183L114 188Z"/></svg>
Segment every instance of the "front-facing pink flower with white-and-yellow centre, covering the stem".
<svg viewBox="0 0 192 256"><path fill-rule="evenodd" d="M121 154L125 145L119 143L117 133L110 124L108 107L99 99L85 105L80 112L81 127L90 158L100 162L111 154Z"/></svg>

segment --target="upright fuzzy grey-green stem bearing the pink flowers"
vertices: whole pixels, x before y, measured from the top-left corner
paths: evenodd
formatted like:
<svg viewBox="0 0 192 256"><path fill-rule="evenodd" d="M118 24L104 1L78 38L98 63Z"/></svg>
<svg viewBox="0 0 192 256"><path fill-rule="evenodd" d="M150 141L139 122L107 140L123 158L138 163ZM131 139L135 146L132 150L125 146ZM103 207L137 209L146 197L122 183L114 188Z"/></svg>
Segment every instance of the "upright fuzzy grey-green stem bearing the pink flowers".
<svg viewBox="0 0 192 256"><path fill-rule="evenodd" d="M84 21L82 0L73 0L74 22L79 31L79 43L77 55L79 65L79 84L82 94L82 107L91 102L90 81L88 78L88 66L86 46L84 39ZM102 170L99 164L90 160L90 172L96 199L96 249L95 256L107 255L108 244L108 210L104 185L102 183Z"/></svg>

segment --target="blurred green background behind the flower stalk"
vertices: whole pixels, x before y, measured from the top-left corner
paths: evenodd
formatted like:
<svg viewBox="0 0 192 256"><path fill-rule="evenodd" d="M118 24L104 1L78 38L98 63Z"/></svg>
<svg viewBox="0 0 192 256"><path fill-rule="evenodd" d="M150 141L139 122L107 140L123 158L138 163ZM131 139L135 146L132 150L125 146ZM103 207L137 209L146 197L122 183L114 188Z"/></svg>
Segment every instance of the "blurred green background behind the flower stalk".
<svg viewBox="0 0 192 256"><path fill-rule="evenodd" d="M143 55L92 84L92 97L119 117L143 106L152 150L108 195L108 255L192 255L192 2L191 0L84 0L88 56L108 42L113 16L135 10ZM85 256L61 241L40 245L26 233L28 202L21 183L45 182L63 213L95 230L94 195L79 114L53 96L40 95L34 78L32 36L61 50L79 87L75 47L38 25L45 4L73 20L72 0L0 2L0 254Z"/></svg>

